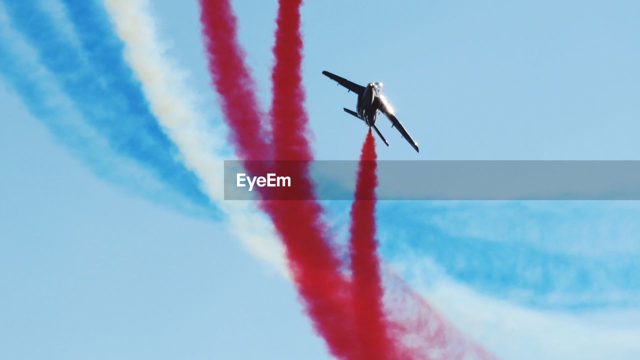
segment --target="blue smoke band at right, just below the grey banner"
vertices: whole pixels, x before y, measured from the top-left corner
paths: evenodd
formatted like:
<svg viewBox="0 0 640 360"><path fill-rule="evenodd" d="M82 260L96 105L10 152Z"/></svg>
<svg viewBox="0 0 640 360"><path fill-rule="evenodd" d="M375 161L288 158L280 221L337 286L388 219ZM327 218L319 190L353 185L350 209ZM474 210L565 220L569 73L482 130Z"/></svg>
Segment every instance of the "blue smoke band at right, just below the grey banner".
<svg viewBox="0 0 640 360"><path fill-rule="evenodd" d="M474 207L482 209L481 204ZM417 269L428 279L433 274L424 272L434 268L424 265L431 263L481 293L525 306L575 311L640 306L637 254L565 254L518 238L487 241L458 236L433 221L445 217L446 211L409 202L382 203L378 219L383 256L410 267L418 265L407 271L409 277ZM532 216L525 211L511 221L525 224ZM550 222L543 219L540 224ZM608 241L602 239L602 244Z"/></svg>

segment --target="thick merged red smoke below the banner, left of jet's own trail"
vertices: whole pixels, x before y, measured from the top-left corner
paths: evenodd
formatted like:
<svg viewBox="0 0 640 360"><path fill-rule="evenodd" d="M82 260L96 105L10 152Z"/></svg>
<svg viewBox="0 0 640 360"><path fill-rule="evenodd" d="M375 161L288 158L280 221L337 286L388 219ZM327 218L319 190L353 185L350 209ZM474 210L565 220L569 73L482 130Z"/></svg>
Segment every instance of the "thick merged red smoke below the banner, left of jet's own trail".
<svg viewBox="0 0 640 360"><path fill-rule="evenodd" d="M314 328L335 357L355 359L349 283L324 241L327 229L316 216L319 205L307 200L266 201L264 208L285 243L289 268Z"/></svg>

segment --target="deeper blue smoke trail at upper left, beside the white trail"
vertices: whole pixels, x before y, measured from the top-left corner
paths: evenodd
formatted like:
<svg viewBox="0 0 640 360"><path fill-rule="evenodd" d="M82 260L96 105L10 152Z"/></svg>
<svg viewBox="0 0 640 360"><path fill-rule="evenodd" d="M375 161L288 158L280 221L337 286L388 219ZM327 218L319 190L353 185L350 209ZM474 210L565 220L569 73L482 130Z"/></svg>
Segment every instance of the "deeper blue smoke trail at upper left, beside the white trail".
<svg viewBox="0 0 640 360"><path fill-rule="evenodd" d="M136 160L193 204L211 208L200 182L180 163L177 149L150 113L131 70L122 65L122 60L115 61L122 58L122 44L113 33L111 37L101 34L104 43L93 35L79 34L88 50L85 54L65 38L35 1L3 3L13 27L33 45L40 63L116 153ZM92 42L86 41L92 38Z"/></svg>

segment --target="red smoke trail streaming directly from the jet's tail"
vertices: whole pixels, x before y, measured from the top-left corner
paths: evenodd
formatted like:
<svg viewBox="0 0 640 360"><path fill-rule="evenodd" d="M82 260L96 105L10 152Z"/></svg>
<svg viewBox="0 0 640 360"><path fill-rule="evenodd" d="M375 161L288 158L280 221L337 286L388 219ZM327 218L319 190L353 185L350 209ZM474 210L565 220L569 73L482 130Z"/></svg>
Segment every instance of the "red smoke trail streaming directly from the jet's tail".
<svg viewBox="0 0 640 360"><path fill-rule="evenodd" d="M391 359L394 354L394 344L387 334L380 263L376 254L376 158L376 142L369 129L358 163L349 229L353 313L356 338L362 348L360 358L363 360L386 360Z"/></svg>

